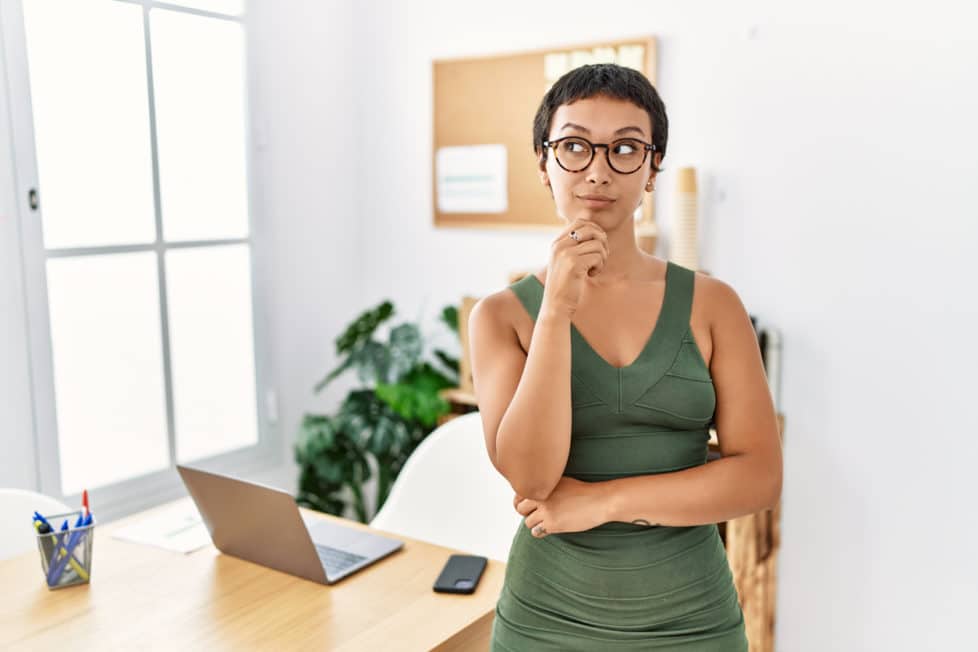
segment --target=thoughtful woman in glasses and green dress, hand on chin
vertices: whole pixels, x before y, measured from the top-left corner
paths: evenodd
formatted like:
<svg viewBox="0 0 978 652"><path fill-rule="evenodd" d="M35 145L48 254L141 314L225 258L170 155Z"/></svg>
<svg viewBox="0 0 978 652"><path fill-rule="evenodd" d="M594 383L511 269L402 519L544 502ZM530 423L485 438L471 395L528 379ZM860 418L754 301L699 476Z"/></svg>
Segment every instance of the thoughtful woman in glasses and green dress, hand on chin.
<svg viewBox="0 0 978 652"><path fill-rule="evenodd" d="M636 244L667 134L652 85L613 64L564 75L534 120L566 225L469 326L486 447L525 517L493 650L747 650L716 524L777 502L780 438L737 294Z"/></svg>

